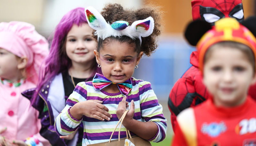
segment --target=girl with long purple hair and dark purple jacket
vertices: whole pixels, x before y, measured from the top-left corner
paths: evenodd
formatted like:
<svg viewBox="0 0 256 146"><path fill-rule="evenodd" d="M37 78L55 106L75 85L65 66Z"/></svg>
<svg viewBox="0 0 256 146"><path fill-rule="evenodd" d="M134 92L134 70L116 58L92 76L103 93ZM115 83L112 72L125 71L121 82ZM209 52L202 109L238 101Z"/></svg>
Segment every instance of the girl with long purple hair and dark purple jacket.
<svg viewBox="0 0 256 146"><path fill-rule="evenodd" d="M77 83L93 79L97 69L94 50L97 42L92 37L84 8L69 11L56 27L50 55L41 67L36 89L27 90L24 96L32 97L33 107L39 110L42 129L40 134L54 146L82 143L83 128L73 135L58 136L54 120L66 106L66 100Z"/></svg>

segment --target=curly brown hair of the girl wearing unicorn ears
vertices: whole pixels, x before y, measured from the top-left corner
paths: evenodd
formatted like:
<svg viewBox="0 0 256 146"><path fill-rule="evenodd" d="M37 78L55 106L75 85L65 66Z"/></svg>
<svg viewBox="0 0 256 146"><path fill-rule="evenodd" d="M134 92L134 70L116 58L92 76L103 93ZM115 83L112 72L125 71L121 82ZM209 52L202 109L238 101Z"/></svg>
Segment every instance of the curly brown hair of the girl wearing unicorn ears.
<svg viewBox="0 0 256 146"><path fill-rule="evenodd" d="M107 4L105 8L103 8L101 15L105 18L106 22L109 22L109 24L112 24L115 21L123 20L127 21L129 24L132 24L134 21L137 20L143 20L147 17L152 17L154 19L154 30L152 34L148 37L142 37L142 43L139 45L139 48L136 48L137 52L144 52L145 55L150 56L151 53L155 52L155 49L157 48L156 38L161 34L162 29L162 17L163 12L160 11L161 7L157 5L145 5L142 8L133 10L133 9L124 9L120 4L114 3L114 4ZM93 32L94 34L94 32ZM94 38L97 38L97 36L94 36ZM122 37L121 37L122 38ZM118 39L118 38L117 38ZM116 39L116 40L117 40ZM103 43L107 43L106 41L111 41L110 39L99 39L98 42L98 49L102 47ZM136 40L134 40L134 43L137 45ZM131 42L129 42L131 43Z"/></svg>

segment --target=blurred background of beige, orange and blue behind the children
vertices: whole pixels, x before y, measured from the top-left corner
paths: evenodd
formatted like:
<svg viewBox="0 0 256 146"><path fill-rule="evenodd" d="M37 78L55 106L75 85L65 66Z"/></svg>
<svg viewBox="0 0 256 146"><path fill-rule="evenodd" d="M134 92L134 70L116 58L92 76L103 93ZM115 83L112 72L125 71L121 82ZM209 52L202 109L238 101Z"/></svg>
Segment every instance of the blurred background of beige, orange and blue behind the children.
<svg viewBox="0 0 256 146"><path fill-rule="evenodd" d="M164 31L159 47L150 57L143 56L133 77L151 82L167 119L167 138L156 145L170 145L173 134L167 106L174 83L191 66L190 53L195 50L183 37L186 25L192 21L191 0L0 0L0 22L25 21L47 39L54 33L60 19L76 7L93 6L101 11L106 3L120 3L124 8L139 8L147 3L162 6L165 12ZM244 17L256 14L255 0L243 0Z"/></svg>

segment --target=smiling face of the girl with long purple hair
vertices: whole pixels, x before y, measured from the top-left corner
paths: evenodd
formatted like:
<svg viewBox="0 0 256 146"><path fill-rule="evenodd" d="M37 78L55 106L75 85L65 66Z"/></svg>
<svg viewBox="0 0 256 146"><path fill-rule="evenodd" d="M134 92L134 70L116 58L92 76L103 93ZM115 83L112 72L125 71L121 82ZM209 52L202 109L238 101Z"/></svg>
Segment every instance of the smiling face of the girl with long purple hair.
<svg viewBox="0 0 256 146"><path fill-rule="evenodd" d="M92 31L88 24L74 24L67 33L66 53L72 65L86 64L95 59L93 51L97 49L97 42L92 37Z"/></svg>

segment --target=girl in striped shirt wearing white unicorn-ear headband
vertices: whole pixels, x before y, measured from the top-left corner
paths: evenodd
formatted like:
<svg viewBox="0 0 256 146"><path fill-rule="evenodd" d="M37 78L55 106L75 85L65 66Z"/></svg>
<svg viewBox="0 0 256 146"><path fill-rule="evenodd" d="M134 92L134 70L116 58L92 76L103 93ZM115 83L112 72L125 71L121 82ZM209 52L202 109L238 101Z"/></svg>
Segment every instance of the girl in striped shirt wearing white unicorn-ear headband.
<svg viewBox="0 0 256 146"><path fill-rule="evenodd" d="M85 13L98 40L94 54L103 75L96 73L92 81L77 84L55 120L56 132L60 136L69 135L82 122L83 145L107 142L129 109L120 138L126 137L126 128L132 136L151 142L164 140L166 119L151 84L132 77L142 55L150 56L157 48L155 39L161 26L159 9L149 6L123 10L120 4L109 4L102 15L93 7L86 8ZM90 100L102 103L91 104ZM118 132L114 132L112 139L118 139Z"/></svg>

